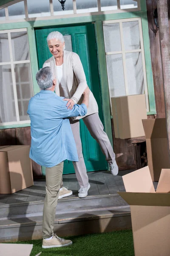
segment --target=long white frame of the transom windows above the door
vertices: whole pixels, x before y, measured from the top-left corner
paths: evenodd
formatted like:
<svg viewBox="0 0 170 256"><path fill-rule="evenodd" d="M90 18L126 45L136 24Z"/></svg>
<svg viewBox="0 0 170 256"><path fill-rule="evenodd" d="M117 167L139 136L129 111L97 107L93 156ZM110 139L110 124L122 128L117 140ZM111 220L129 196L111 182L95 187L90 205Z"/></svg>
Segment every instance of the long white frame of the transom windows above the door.
<svg viewBox="0 0 170 256"><path fill-rule="evenodd" d="M105 14L112 14L112 13L121 13L121 12L137 12L141 11L141 4L140 0L134 0L137 2L138 7L137 8L131 8L131 9L120 9L120 0L117 0L117 9L116 10L109 10L109 11L101 11L101 1L97 0L97 12L86 12L86 13L77 13L77 6L76 6L76 1L77 0L72 0L73 1L73 14L69 15L54 15L54 8L53 8L53 0L48 0L49 1L49 6L50 6L50 12L51 16L45 16L45 17L34 17L34 18L29 18L28 17L28 5L27 5L27 0L14 0L10 3L6 3L3 6L0 6L0 10L5 8L6 12L6 20L0 20L0 23L11 23L11 22L23 22L23 21L34 21L34 20L53 20L53 19L60 19L60 18L67 18L67 17L82 17L82 16L91 16L91 15L105 15ZM9 15L8 15L8 6L11 6L15 3L19 2L24 2L24 7L25 7L25 19L14 19L14 20L9 20Z"/></svg>

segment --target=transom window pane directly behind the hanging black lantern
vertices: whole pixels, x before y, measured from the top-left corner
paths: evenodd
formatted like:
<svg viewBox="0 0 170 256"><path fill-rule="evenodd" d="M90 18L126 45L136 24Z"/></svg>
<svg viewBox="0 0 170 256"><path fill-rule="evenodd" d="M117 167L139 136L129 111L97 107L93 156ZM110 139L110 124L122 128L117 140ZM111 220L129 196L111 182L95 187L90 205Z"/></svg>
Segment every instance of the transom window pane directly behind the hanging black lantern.
<svg viewBox="0 0 170 256"><path fill-rule="evenodd" d="M67 0L64 5L64 11L62 10L59 0L53 0L54 15L66 15L73 14L73 0Z"/></svg>

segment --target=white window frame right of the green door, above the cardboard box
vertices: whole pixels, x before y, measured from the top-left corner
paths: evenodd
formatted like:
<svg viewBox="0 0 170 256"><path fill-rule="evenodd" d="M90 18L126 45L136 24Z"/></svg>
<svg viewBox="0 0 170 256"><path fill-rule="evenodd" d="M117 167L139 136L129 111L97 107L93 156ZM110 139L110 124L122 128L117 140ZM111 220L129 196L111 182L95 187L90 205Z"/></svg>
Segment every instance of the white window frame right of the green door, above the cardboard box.
<svg viewBox="0 0 170 256"><path fill-rule="evenodd" d="M125 45L124 45L124 40L123 40L123 26L122 26L122 23L123 22L130 22L130 21L138 21L138 23L139 23L139 35L140 35L141 49L125 50ZM126 55L125 54L126 53L131 53L131 52L141 52L141 54L142 54L143 75L144 75L144 94L145 94L145 99L146 99L147 112L149 112L150 110L149 110L149 99L148 99L148 90L147 90L147 75L146 75L146 65L145 65L145 57L144 57L144 44L143 44L141 18L129 18L129 19L120 19L120 20L105 20L102 23L103 24L119 23L122 51L105 52L105 55L122 54L126 95L129 95L129 94L128 94L128 81L127 81L127 69L126 69L126 57L125 57ZM110 86L109 86L109 94L111 95ZM110 96L110 99L111 99L111 96Z"/></svg>

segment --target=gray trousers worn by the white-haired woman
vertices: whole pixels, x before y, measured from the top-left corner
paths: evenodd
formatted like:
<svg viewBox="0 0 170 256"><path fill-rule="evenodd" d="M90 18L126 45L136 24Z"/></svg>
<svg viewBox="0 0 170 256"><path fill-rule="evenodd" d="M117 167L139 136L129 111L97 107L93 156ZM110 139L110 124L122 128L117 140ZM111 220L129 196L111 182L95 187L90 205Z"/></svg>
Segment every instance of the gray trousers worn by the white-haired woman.
<svg viewBox="0 0 170 256"><path fill-rule="evenodd" d="M115 160L115 154L113 152L113 148L111 146L108 135L103 130L104 127L99 118L98 113L94 113L92 115L86 116L82 119L88 128L91 136L99 143L99 146L106 157L108 163L113 163ZM79 120L71 120L71 129L74 135L74 140L77 146L77 152L79 157L79 162L73 162L74 170L76 173L76 177L81 188L88 186L88 175L85 167L85 161L82 154L82 143L80 139L80 131L79 131Z"/></svg>

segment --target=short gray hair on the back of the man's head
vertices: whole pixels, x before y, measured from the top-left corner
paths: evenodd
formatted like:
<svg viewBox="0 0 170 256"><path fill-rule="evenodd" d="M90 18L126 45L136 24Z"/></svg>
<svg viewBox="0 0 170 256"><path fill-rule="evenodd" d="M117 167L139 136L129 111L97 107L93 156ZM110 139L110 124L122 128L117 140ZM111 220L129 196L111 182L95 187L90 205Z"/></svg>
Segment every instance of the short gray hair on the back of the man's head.
<svg viewBox="0 0 170 256"><path fill-rule="evenodd" d="M51 67L43 67L36 74L37 84L41 90L49 90L53 86L54 75Z"/></svg>

